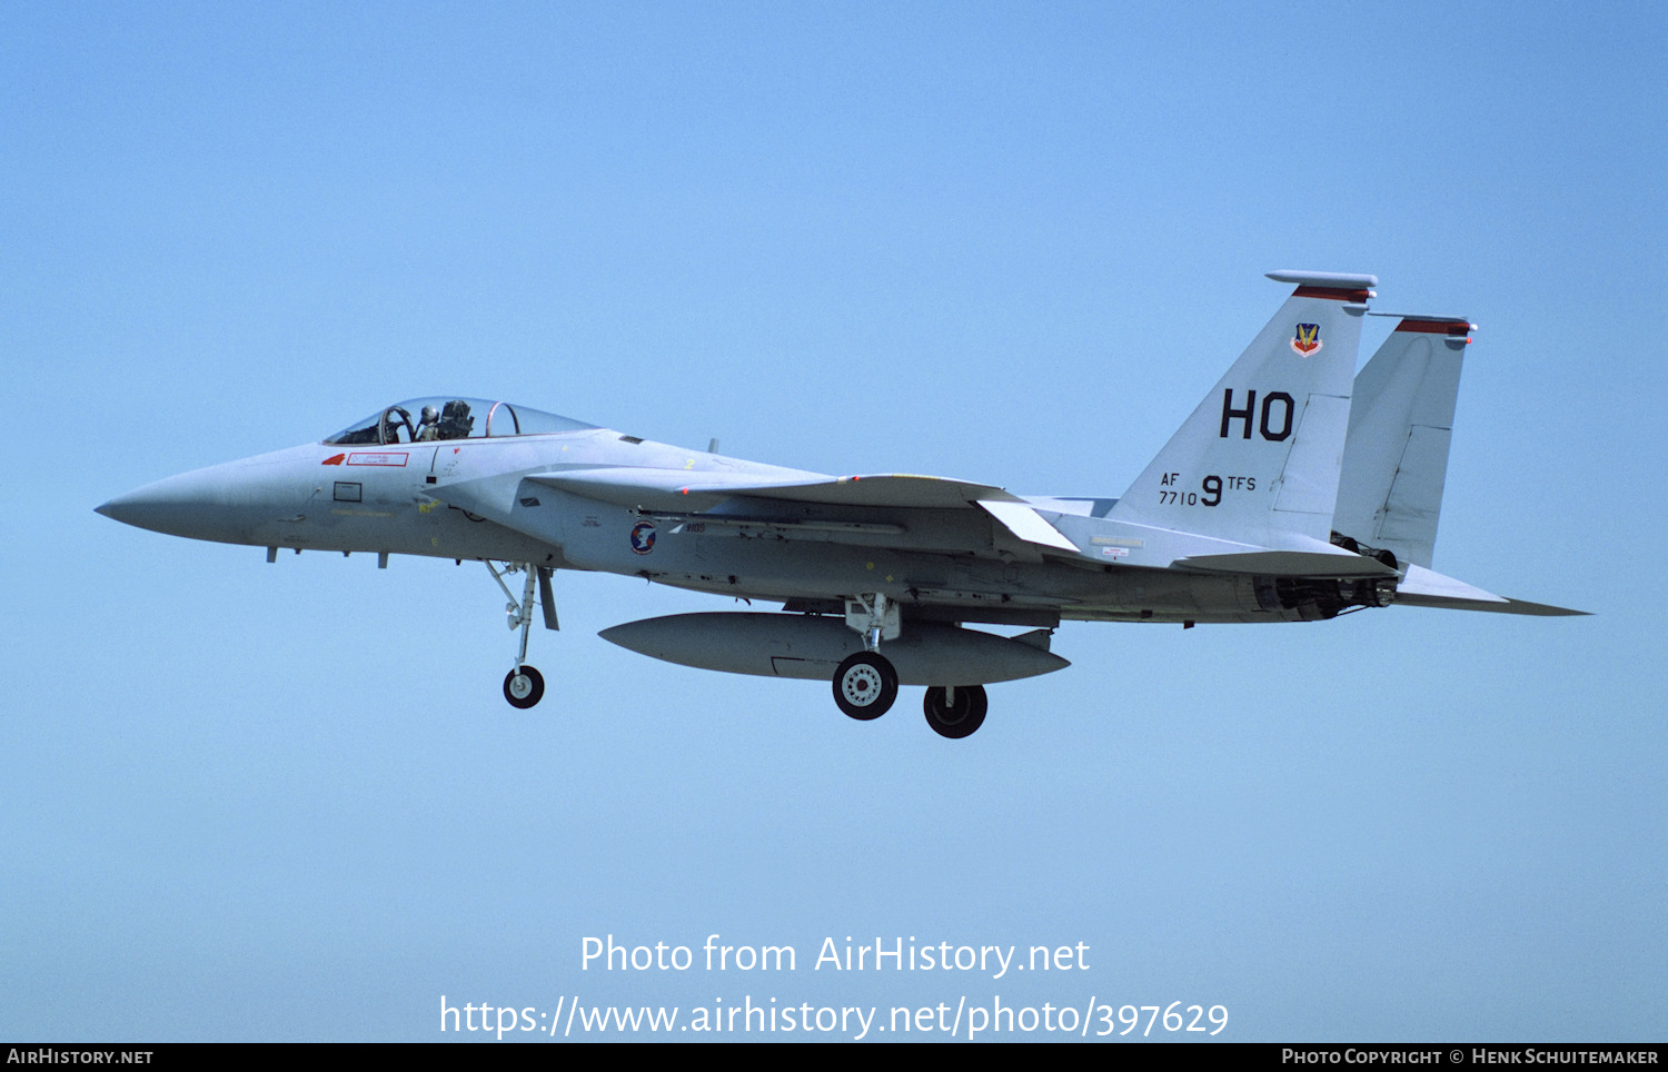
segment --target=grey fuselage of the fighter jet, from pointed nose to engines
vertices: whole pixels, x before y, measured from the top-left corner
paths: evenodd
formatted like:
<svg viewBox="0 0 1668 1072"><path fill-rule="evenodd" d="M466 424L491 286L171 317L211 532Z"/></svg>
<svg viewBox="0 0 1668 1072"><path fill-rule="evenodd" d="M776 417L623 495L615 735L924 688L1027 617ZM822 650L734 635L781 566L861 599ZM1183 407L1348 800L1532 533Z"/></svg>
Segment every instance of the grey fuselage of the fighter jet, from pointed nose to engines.
<svg viewBox="0 0 1668 1072"><path fill-rule="evenodd" d="M1273 582L1163 569L1181 554L1246 547L1108 520L1111 498L1024 500L1078 547L1074 555L1044 555L966 503L794 503L792 517L784 517L781 502L747 495L684 505L614 492L605 502L534 477L604 468L749 482L834 478L502 403L490 405L485 428L450 438L424 437L409 417L389 420L415 410L415 402L389 407L380 418L327 440L170 477L98 510L143 528L225 544L527 562L799 609L829 610L854 594L881 592L907 617L941 622L1329 617L1324 607L1306 605L1313 600L1283 599ZM529 430L505 420L505 410ZM540 425L552 430L534 430Z"/></svg>

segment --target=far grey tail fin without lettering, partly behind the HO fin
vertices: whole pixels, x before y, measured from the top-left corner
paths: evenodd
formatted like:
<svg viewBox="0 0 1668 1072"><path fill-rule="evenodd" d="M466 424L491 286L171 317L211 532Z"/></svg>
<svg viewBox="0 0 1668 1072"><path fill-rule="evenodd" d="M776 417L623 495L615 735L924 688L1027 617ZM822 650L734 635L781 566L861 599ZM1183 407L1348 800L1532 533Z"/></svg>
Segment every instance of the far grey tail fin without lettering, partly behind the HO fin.
<svg viewBox="0 0 1668 1072"><path fill-rule="evenodd" d="M1333 530L1429 569L1460 363L1476 325L1403 317L1354 382Z"/></svg>

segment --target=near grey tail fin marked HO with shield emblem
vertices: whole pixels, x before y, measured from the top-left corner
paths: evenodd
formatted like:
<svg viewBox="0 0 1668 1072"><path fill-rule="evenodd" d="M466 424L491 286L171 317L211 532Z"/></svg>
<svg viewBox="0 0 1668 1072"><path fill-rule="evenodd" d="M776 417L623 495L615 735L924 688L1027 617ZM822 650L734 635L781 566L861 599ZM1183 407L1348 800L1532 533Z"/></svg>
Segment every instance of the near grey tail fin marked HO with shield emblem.
<svg viewBox="0 0 1668 1072"><path fill-rule="evenodd" d="M1109 517L1259 545L1328 539L1361 315L1378 278L1269 278L1298 288Z"/></svg>

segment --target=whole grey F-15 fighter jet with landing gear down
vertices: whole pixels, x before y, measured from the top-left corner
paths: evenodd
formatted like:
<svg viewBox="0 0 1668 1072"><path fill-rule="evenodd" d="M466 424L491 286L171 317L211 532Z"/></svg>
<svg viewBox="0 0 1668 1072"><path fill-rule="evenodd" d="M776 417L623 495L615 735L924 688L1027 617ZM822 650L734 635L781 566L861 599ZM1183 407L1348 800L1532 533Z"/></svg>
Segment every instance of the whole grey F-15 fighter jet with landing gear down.
<svg viewBox="0 0 1668 1072"><path fill-rule="evenodd" d="M267 549L480 560L520 632L504 697L532 707L534 587L605 570L781 602L602 637L669 662L831 680L852 719L926 685L966 737L984 685L1069 665L1063 620L1308 622L1406 604L1581 614L1431 570L1460 363L1475 325L1401 317L1354 375L1371 275L1296 288L1123 498L1014 495L902 473L829 477L686 450L507 402L417 398L322 442L200 468L98 512ZM716 445L714 445L716 448ZM502 569L500 565L502 564ZM520 574L520 594L505 584ZM967 624L1031 627L1016 637Z"/></svg>

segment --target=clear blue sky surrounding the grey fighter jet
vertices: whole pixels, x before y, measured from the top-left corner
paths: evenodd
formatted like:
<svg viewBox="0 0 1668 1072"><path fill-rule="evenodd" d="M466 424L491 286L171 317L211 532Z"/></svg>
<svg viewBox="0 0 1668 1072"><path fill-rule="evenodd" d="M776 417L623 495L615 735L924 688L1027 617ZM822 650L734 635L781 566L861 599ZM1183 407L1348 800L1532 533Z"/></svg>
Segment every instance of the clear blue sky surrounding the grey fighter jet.
<svg viewBox="0 0 1668 1072"><path fill-rule="evenodd" d="M0 1037L1001 995L1221 1004L1238 1040L1663 1039L1665 30L1646 3L13 5ZM727 604L564 574L522 714L479 565L267 565L92 512L429 393L1116 495L1274 268L1480 323L1434 565L1595 617L1068 624L1069 670L946 742L919 690L856 724L816 684L614 649ZM605 934L801 964L582 970ZM811 970L846 935L1089 969Z"/></svg>

